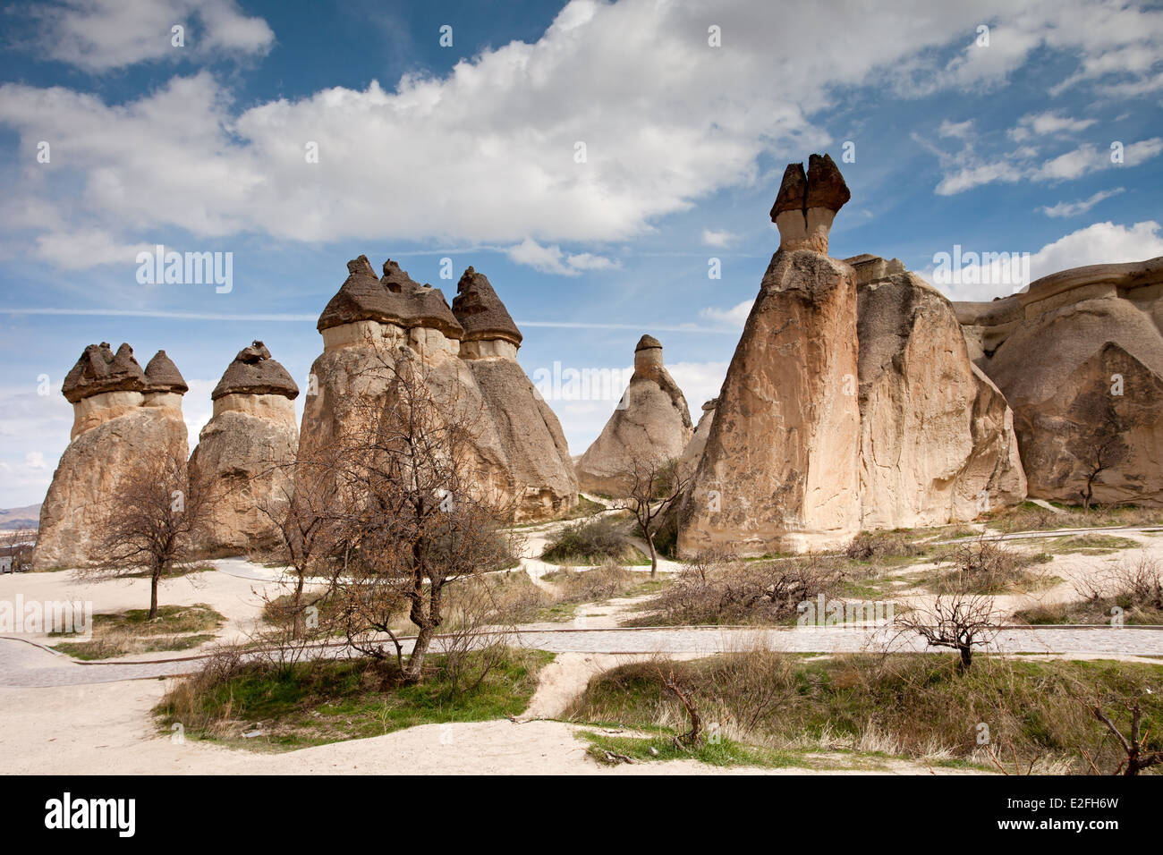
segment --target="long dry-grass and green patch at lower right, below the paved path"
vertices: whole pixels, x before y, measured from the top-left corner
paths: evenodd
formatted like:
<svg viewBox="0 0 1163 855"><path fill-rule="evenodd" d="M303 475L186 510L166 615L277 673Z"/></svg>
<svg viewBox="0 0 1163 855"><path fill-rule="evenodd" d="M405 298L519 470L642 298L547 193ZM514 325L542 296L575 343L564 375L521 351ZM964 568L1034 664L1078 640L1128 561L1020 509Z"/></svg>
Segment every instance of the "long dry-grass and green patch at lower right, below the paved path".
<svg viewBox="0 0 1163 855"><path fill-rule="evenodd" d="M978 724L985 722L990 746L1006 763L1016 750L1023 764L1036 760L1085 772L1085 749L1111 771L1121 749L1089 708L1096 697L1108 701L1107 713L1125 732L1121 700L1139 698L1143 732L1149 726L1153 750L1163 749L1163 667L1156 664L979 654L959 674L954 656L944 654L755 651L664 668L692 692L707 727L722 722L725 738L777 751L879 751L992 767L977 742ZM593 677L565 718L647 733L685 729L685 711L663 690L656 669L632 663Z"/></svg>

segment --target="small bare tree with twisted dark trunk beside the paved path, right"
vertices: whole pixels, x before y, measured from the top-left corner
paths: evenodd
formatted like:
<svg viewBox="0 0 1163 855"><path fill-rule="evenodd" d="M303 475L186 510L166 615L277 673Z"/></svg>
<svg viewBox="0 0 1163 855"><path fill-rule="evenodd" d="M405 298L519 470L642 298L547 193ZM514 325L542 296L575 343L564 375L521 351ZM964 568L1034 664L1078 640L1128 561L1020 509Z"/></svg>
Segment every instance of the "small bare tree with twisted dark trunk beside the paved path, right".
<svg viewBox="0 0 1163 855"><path fill-rule="evenodd" d="M929 647L956 650L962 674L973 664L973 648L992 642L1000 629L993 597L976 593L969 576L963 568L957 568L948 593L937 594L930 606L898 614L894 621L898 634L916 633Z"/></svg>

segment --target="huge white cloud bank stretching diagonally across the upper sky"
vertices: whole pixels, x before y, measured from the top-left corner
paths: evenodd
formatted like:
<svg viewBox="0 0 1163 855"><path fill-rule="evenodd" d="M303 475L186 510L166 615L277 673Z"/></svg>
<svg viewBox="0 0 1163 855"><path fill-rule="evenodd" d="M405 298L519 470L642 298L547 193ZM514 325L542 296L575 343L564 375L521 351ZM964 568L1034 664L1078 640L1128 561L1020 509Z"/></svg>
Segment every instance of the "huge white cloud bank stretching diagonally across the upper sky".
<svg viewBox="0 0 1163 855"><path fill-rule="evenodd" d="M187 1L160 8L173 17ZM137 6L126 21L121 6L77 3L47 20L92 67L156 57L142 34L162 19L143 28ZM199 44L264 49L265 24L241 15L224 0L202 7ZM0 222L34 233L34 242L44 233L58 241L104 233L110 249L95 257L150 243L170 227L312 242L621 241L754 180L761 156L825 148L828 135L808 116L829 106L834 90L882 80L907 88L942 49L971 42L983 20L998 22L991 45L968 44L934 86L1004 79L1041 48L1093 60L1104 50L1163 44L1163 13L1096 10L1082 0L1042 0L1021 12L1009 0L854 6L839 28L833 16L821 5L728 0L715 8L723 48L712 49L706 13L692 6L573 0L536 42L486 49L444 77L411 74L391 91L371 81L248 108L206 72L115 106L67 88L8 84L0 126L19 134L26 165L0 200ZM1133 65L1101 79L1133 83L1147 73ZM40 140L62 152L49 169L28 157ZM584 163L575 162L579 141ZM317 163L306 162L309 142L319 145ZM958 169L964 174L946 190L1008 176L997 164ZM60 222L29 223L34 205ZM578 257L572 268L586 263L604 262Z"/></svg>

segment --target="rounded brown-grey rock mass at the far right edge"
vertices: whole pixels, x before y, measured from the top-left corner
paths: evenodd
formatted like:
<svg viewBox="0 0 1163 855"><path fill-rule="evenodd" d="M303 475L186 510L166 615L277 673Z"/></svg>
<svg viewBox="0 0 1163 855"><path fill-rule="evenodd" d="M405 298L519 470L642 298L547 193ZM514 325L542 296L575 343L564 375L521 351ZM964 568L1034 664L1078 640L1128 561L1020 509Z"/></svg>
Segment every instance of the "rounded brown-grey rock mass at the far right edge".
<svg viewBox="0 0 1163 855"><path fill-rule="evenodd" d="M1094 499L1163 505L1163 257L1064 270L957 314L1013 407L1030 496L1079 503L1106 435Z"/></svg>

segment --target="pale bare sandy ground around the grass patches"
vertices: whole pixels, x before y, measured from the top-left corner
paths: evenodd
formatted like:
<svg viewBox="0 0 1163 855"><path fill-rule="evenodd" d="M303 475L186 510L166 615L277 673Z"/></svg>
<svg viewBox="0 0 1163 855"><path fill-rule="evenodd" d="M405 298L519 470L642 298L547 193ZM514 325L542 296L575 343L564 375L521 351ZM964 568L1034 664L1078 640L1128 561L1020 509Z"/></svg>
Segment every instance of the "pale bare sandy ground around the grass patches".
<svg viewBox="0 0 1163 855"><path fill-rule="evenodd" d="M559 525L559 523L558 523ZM529 529L526 562L538 578L554 569L536 561L551 527ZM1120 534L1142 543L1163 561L1163 537ZM1028 544L1041 549L1037 541ZM1050 601L1073 596L1071 582L1093 573L1112 556L1056 556L1050 572L1065 579L1035 599ZM670 569L670 568L665 568ZM644 569L645 570L645 569ZM263 573L256 570L256 575ZM273 573L271 573L273 576ZM163 604L207 603L227 618L222 639L244 637L257 618L262 592L277 585L263 578L240 578L228 572L197 573L162 584ZM149 601L145 579L85 583L71 573L0 576L0 599L22 593L29 600L92 600L97 612L141 608ZM1026 605L1014 598L1012 607ZM578 608L591 627L613 627L637 605L613 600ZM561 625L552 625L561 627ZM33 637L42 642L47 636ZM188 655L188 654L183 654ZM135 660L173 654L135 655ZM320 746L287 753L248 751L185 741L158 734L150 710L165 691L166 679L121 681L50 689L0 689L0 771L8 774L804 774L801 769L714 769L694 761L604 767L586 756L578 726L554 721L595 674L632 657L626 655L563 653L543 672L520 724L508 720L429 725L374 739ZM48 667L67 668L69 662ZM878 771L890 774L949 774L925 764L889 762ZM827 774L827 772L825 772ZM847 771L843 774L854 774Z"/></svg>

